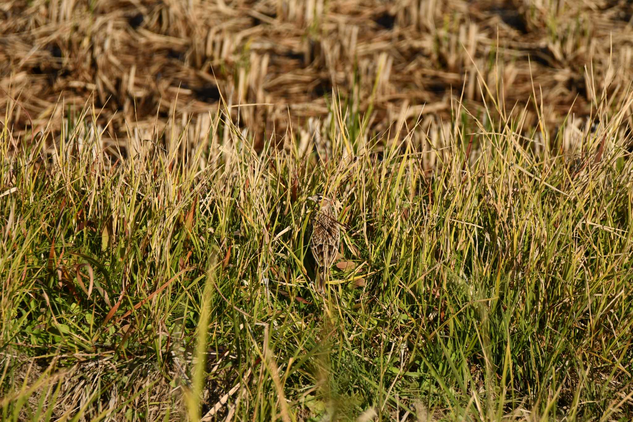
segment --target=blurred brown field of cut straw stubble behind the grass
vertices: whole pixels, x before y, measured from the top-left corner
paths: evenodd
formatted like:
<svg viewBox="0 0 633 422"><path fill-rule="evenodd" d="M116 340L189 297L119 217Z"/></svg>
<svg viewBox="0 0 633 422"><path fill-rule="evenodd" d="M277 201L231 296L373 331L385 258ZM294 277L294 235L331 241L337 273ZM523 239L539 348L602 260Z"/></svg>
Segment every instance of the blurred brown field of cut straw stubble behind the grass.
<svg viewBox="0 0 633 422"><path fill-rule="evenodd" d="M104 143L124 148L172 123L205 137L222 96L256 104L230 111L261 146L326 124L334 90L370 135L422 116L423 142L460 101L523 131L538 110L555 133L571 111L582 132L628 92L632 16L627 0L9 0L0 111L14 134L29 117L59 133L94 104Z"/></svg>

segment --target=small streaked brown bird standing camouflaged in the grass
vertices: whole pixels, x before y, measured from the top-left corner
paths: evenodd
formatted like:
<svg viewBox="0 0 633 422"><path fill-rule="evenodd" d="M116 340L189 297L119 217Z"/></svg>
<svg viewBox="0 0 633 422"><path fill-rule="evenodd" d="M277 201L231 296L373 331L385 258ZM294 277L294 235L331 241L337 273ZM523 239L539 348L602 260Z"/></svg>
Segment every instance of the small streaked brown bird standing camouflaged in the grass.
<svg viewBox="0 0 633 422"><path fill-rule="evenodd" d="M339 204L323 194L316 194L308 199L318 204L318 209L312 218L310 249L318 266L316 286L318 290L324 292L330 267L334 264L341 242L341 228L338 221Z"/></svg>

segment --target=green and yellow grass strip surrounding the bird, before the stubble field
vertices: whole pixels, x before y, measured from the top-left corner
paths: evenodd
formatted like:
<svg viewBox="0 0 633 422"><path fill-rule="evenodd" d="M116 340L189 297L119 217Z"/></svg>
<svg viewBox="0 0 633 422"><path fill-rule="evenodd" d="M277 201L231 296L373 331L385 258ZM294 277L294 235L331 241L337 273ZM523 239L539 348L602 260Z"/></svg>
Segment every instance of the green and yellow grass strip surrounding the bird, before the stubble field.
<svg viewBox="0 0 633 422"><path fill-rule="evenodd" d="M629 102L575 155L564 125L539 148L461 106L424 152L338 101L261 152L226 106L206 142L174 116L124 158L92 106L54 143L7 116L3 420L629 420ZM328 189L322 297L306 197Z"/></svg>

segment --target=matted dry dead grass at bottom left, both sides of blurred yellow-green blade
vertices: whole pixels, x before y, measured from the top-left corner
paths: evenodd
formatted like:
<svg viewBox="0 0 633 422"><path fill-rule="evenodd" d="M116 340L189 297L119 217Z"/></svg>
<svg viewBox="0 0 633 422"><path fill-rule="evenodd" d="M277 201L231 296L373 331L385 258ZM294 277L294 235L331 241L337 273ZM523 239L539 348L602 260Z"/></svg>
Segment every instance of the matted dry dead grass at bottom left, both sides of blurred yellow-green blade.
<svg viewBox="0 0 633 422"><path fill-rule="evenodd" d="M226 352L208 352L210 378L201 391L202 420L227 416L225 404L237 388L227 388L235 382L235 375L221 364L234 358ZM9 387L8 394L0 397L0 406L26 399L28 406L21 409L19 420L36 420L31 413L40 404L53 420L77 414L82 414L81 421L160 420L165 414L170 415L169 420L187 420L184 397L191 366L190 351L174 354L161 367L151 356L120 359L104 352L28 357L9 350L0 354L0 387L4 393Z"/></svg>

